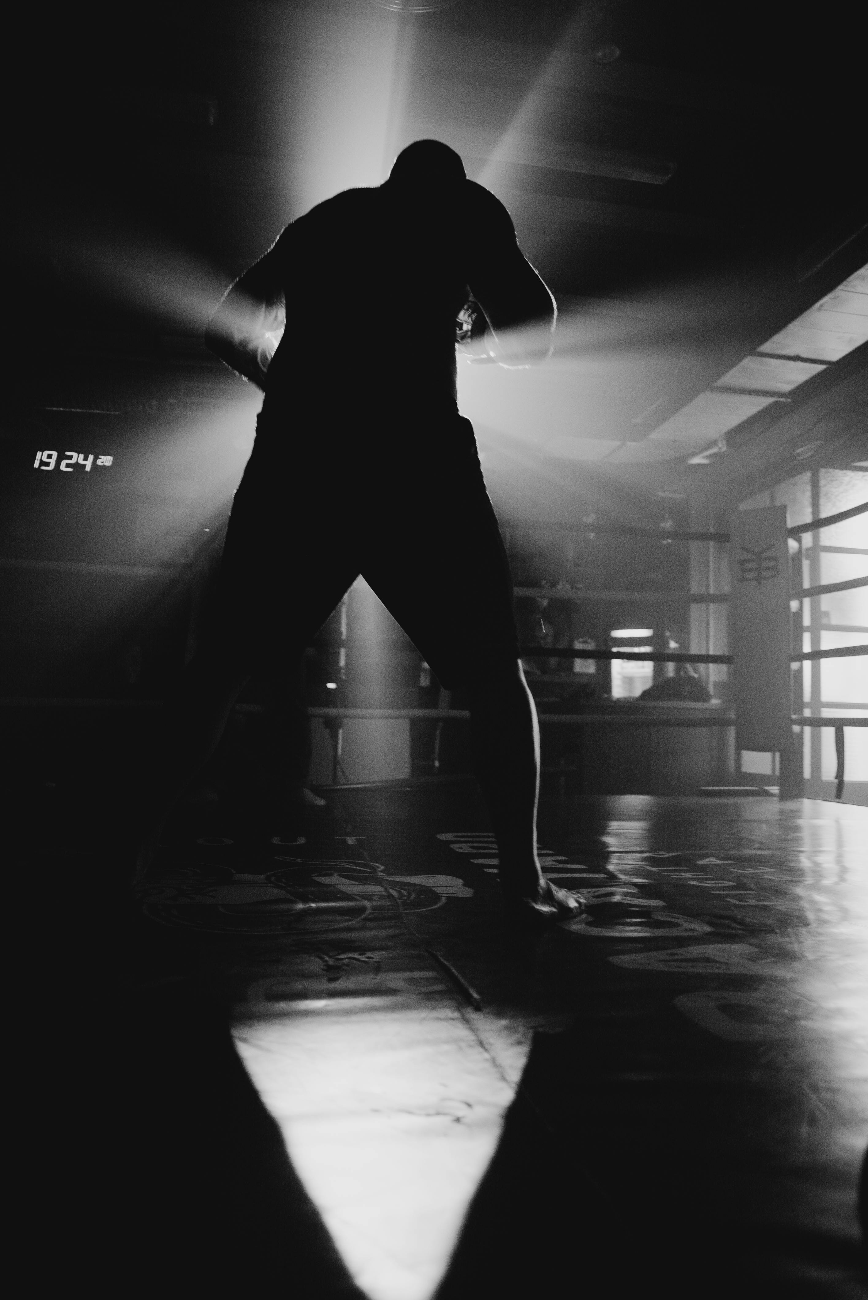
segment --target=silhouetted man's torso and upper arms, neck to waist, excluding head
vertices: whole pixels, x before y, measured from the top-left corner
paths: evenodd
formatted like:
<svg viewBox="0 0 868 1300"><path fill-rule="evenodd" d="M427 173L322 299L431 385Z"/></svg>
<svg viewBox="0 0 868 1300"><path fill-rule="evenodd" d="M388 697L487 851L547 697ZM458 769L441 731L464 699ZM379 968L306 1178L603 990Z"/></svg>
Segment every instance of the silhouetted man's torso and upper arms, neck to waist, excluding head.
<svg viewBox="0 0 868 1300"><path fill-rule="evenodd" d="M235 287L286 302L265 381L269 412L455 412L456 318L470 296L495 330L554 320L509 213L472 181L338 194L288 225Z"/></svg>

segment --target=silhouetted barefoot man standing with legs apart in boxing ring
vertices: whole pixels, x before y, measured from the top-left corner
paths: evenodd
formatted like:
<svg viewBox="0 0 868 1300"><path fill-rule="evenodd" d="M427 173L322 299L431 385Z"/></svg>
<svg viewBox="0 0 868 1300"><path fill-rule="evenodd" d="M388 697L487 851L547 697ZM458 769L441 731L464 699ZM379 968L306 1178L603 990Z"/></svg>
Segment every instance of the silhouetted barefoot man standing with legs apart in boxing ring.
<svg viewBox="0 0 868 1300"><path fill-rule="evenodd" d="M543 339L531 351L548 355L551 294L507 209L437 140L405 148L383 185L299 217L223 298L207 342L265 400L229 523L217 632L186 672L169 784L177 792L205 760L244 681L299 655L361 572L440 682L469 693L507 902L568 919L581 902L544 881L537 858L537 714L503 541L456 402L457 317L473 300L489 355L531 359L508 333L529 322Z"/></svg>

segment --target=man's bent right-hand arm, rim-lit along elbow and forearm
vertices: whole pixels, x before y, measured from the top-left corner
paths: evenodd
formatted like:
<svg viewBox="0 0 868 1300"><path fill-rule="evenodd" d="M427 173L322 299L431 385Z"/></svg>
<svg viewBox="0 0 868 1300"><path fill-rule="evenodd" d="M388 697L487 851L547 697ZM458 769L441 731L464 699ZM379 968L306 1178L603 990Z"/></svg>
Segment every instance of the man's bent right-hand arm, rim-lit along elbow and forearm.
<svg viewBox="0 0 868 1300"><path fill-rule="evenodd" d="M477 347L504 365L531 365L552 352L555 299L518 247L512 218L490 190L472 187L469 287L487 329ZM474 330L476 333L476 330Z"/></svg>

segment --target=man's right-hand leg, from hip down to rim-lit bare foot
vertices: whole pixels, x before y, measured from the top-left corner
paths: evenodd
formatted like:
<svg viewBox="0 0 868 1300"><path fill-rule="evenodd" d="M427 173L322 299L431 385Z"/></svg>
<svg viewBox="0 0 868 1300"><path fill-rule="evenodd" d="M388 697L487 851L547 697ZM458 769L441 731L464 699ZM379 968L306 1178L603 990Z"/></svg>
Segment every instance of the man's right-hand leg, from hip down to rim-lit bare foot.
<svg viewBox="0 0 868 1300"><path fill-rule="evenodd" d="M372 512L379 523L363 572L439 680L469 690L474 767L508 904L568 920L582 905L543 879L537 858L539 729L518 658L509 563L469 421L435 432L437 462L422 472L405 451L403 490L394 486L392 499Z"/></svg>

